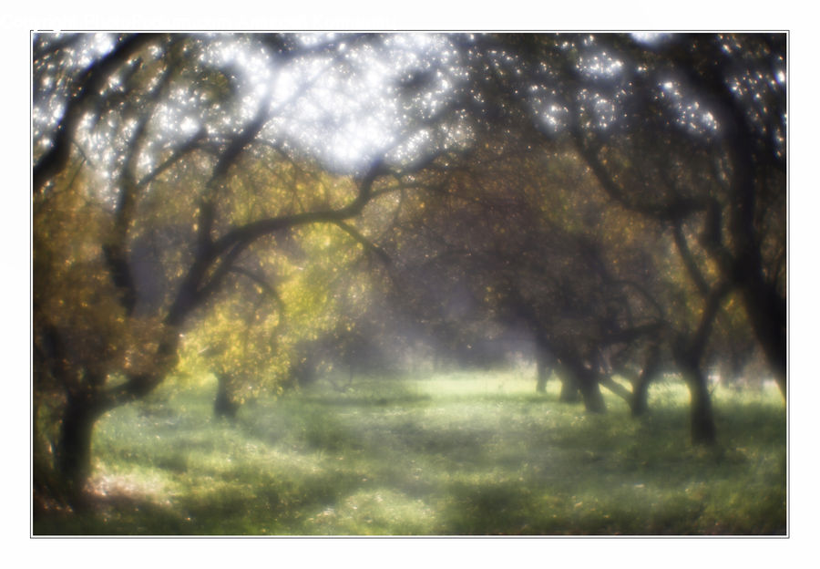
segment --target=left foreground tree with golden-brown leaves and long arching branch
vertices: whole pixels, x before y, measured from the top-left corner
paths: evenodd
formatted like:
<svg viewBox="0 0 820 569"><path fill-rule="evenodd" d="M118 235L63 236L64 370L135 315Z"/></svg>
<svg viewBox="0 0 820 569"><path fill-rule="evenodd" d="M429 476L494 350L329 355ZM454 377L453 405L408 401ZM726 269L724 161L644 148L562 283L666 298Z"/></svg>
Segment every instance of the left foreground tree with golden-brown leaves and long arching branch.
<svg viewBox="0 0 820 569"><path fill-rule="evenodd" d="M377 181L400 167L373 160L354 178L321 174L271 131L321 73L269 100L267 86L236 63L243 51L280 73L296 57L327 70L349 53L343 42L68 40L35 42L35 414L45 420L47 402L56 472L77 502L97 419L156 388L202 318L240 323L222 328L230 349L211 344L223 362L244 349L243 329L265 313L238 295L247 286L275 290L266 284L275 274L270 252L286 248L297 228L343 227L392 191ZM265 310L258 326L270 337L282 313ZM260 347L243 357L279 357L274 344L270 353Z"/></svg>

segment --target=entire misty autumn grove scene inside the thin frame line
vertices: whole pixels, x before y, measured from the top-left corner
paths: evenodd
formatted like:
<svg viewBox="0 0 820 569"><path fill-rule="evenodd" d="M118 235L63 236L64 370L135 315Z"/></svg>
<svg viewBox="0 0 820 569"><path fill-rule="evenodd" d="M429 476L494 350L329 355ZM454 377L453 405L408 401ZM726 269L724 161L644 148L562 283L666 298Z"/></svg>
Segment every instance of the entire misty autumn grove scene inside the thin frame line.
<svg viewBox="0 0 820 569"><path fill-rule="evenodd" d="M35 34L33 534L786 534L786 42Z"/></svg>

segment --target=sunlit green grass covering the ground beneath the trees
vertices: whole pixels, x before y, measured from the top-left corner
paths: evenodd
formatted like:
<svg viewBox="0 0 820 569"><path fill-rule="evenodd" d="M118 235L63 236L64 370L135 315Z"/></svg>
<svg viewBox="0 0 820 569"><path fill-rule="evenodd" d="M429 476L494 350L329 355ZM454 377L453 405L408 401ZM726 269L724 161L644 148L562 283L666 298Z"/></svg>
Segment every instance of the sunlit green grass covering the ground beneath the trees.
<svg viewBox="0 0 820 569"><path fill-rule="evenodd" d="M215 384L108 414L97 505L35 534L783 534L776 388L715 392L717 450L688 443L685 389L589 416L531 373L320 382L213 419Z"/></svg>

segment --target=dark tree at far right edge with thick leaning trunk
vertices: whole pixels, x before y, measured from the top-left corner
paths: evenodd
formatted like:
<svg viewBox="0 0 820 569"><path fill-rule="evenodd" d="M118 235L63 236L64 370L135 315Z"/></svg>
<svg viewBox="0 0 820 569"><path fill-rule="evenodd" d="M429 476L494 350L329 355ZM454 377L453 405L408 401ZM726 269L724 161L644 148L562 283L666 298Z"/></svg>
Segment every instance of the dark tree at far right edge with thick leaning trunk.
<svg viewBox="0 0 820 569"><path fill-rule="evenodd" d="M579 152L627 207L672 231L698 220L698 240L727 286L741 292L785 394L784 36L601 43L642 71L625 89L647 105L638 114L624 103L630 119L613 132L576 128Z"/></svg>

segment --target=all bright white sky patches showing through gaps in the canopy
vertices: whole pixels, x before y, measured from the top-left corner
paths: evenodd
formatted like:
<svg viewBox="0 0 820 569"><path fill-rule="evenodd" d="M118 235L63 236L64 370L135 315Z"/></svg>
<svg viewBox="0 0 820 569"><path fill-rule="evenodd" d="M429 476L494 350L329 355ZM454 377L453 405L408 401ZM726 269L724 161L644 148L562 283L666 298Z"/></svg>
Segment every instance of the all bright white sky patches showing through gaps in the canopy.
<svg viewBox="0 0 820 569"><path fill-rule="evenodd" d="M168 140L187 139L203 126L211 138L230 136L265 105L270 119L263 136L307 151L342 173L361 171L377 157L412 161L431 146L459 146L470 139L466 119L453 113L444 121L436 121L435 127L424 123L443 109L466 81L466 71L459 62L463 56L446 34L384 34L373 41L360 41L354 34L302 34L297 37L306 47L321 46L328 39L336 46L326 54L308 53L285 63L277 62L266 47L249 42L247 36L206 36L209 43L196 57L233 76L236 100L226 102L221 109L201 99L197 85L180 82L156 111L154 121L159 129L153 144L157 148ZM663 34L635 36L647 45L668 39ZM591 90L582 91L579 102L592 111L597 128L610 129L622 113L622 96L630 97L630 88L624 85L622 91L610 89L607 94L606 86L619 81L623 84L636 70L598 46L591 34L581 42L577 66ZM69 63L76 69L85 68L112 47L112 36L88 35ZM499 61L507 57L502 56L497 56ZM784 79L784 71L775 70L773 81ZM54 80L46 75L44 83ZM116 87L116 82L112 86ZM533 86L529 104L547 130L557 132L569 117L569 109L561 102L566 93L550 93L548 89L548 85ZM708 135L719 128L710 109L674 78L658 86L657 96L676 115L682 129ZM38 131L53 128L63 109L57 98L47 106L35 107L35 140ZM128 129L134 124L133 119L130 123L111 119L93 129L90 122L87 124L89 134L79 143L97 160L97 171L116 170L113 160L121 153L118 141L128 144ZM143 171L155 166L152 160L159 154L143 153L139 162Z"/></svg>

